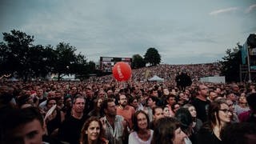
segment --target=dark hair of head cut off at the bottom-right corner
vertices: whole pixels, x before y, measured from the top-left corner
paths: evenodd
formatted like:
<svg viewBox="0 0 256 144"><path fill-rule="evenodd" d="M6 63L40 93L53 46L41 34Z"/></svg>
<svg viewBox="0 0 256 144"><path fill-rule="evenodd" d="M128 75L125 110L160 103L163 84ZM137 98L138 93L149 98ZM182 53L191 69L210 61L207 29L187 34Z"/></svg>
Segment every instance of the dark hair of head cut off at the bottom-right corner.
<svg viewBox="0 0 256 144"><path fill-rule="evenodd" d="M252 135L254 139L248 137ZM225 144L249 144L256 142L256 126L254 123L241 122L232 123L224 126L221 131L220 138ZM253 142L251 142L252 140Z"/></svg>

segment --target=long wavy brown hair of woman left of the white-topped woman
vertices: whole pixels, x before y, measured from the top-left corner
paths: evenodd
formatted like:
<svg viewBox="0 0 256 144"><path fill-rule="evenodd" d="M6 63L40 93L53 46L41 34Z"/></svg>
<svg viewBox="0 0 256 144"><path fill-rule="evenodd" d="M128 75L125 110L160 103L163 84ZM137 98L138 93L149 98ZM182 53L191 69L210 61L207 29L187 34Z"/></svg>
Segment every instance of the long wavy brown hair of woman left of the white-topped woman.
<svg viewBox="0 0 256 144"><path fill-rule="evenodd" d="M89 119L86 120L86 122L82 126L81 138L80 138L80 142L82 142L82 143L85 143L85 144L88 143L88 141L87 141L88 134L86 134L86 130L88 130L88 127L90 126L91 122L98 122L98 125L100 128L100 133L99 133L98 139L103 137L104 131L103 131L102 122L96 117L90 117ZM98 141L98 143L100 144L101 141Z"/></svg>

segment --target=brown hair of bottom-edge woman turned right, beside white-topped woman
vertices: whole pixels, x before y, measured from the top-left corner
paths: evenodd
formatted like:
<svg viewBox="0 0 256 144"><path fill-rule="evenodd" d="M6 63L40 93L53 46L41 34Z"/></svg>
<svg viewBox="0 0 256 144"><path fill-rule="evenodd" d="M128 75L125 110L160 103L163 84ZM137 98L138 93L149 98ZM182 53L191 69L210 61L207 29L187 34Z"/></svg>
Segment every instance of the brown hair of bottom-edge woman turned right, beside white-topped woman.
<svg viewBox="0 0 256 144"><path fill-rule="evenodd" d="M164 117L158 119L154 127L154 134L151 144L172 144L172 139L175 137L175 130L180 127L178 119Z"/></svg>

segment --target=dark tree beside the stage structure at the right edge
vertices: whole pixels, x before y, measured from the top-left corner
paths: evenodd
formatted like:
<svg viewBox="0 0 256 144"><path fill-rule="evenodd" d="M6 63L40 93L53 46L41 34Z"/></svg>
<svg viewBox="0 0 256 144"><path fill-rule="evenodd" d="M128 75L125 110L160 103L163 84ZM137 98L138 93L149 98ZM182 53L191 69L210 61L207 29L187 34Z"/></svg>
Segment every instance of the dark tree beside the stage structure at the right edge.
<svg viewBox="0 0 256 144"><path fill-rule="evenodd" d="M239 45L238 45L239 47ZM226 56L224 56L222 64L221 74L226 77L226 82L239 82L239 66L242 62L241 50L238 47L234 47L233 50L227 49Z"/></svg>

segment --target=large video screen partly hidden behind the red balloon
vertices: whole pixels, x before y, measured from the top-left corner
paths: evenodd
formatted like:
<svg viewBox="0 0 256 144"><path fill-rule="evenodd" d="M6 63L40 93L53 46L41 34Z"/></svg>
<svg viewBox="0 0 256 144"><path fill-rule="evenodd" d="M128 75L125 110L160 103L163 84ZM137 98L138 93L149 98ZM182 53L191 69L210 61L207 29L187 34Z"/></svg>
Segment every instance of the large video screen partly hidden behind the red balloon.
<svg viewBox="0 0 256 144"><path fill-rule="evenodd" d="M112 67L116 62L126 62L130 65L132 58L100 57L100 70L111 73Z"/></svg>

